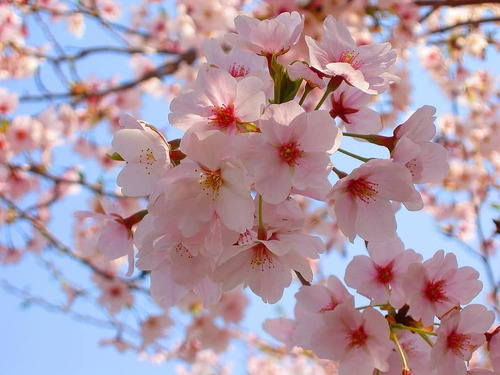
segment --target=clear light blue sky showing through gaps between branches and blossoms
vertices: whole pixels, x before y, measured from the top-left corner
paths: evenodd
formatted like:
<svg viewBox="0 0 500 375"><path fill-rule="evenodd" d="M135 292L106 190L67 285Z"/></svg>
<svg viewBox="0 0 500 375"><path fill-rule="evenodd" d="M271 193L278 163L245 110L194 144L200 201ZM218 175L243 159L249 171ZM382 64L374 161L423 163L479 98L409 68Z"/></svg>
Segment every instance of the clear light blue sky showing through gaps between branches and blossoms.
<svg viewBox="0 0 500 375"><path fill-rule="evenodd" d="M85 43L95 43L93 37L95 35L92 33L86 35ZM103 41L100 39L99 42ZM479 61L476 63L478 66L500 66L498 58L490 60L488 65L483 65ZM88 69L89 72L95 71L96 67L91 65L88 66ZM128 68L123 66L123 70L126 69ZM111 63L99 67L102 76L106 76L110 71L120 74L121 70L120 65ZM496 73L498 74L498 71ZM85 76L85 74L83 75ZM438 116L450 112L450 102L439 92L427 73L422 71L415 53L411 58L411 79L414 86L412 111L422 105L430 104L437 108ZM3 85L11 91L22 91L23 88L23 83L17 82L0 82L0 86ZM167 125L167 114L168 104L161 100L148 99L142 112L142 118L162 128ZM60 156L67 157L66 152L61 151ZM67 162L71 164L71 158L68 158ZM69 201L65 207L61 208L61 213L55 215L57 220L53 224L53 228L57 228L56 234L60 235L66 243L71 236L71 225L68 225L67 215L76 207L82 206L81 199ZM459 257L460 266L471 265L483 273L483 269L476 259L465 254L462 249L457 248L456 244L448 241L436 231L432 219L425 212L407 212L402 209L397 217L398 234L406 248L413 248L422 253L424 259L429 258L441 248L454 251ZM0 235L4 235L4 233L0 231ZM352 255L361 253L363 251L362 241L358 239L355 245L349 249ZM61 264L64 264L64 261ZM328 260L328 271L331 270L332 274L343 278L345 265L346 260L340 254L332 254ZM68 263L66 266L74 267L75 273L82 272L73 264ZM82 277L84 276L82 273ZM47 293L48 299L52 297L50 291L54 289L54 282L48 280L47 276L40 272L39 261L32 256L26 257L21 265L1 267L0 280L8 280L13 285L20 287L29 286L35 294L37 291ZM297 285L295 284L285 291L284 299L277 305L265 305L260 298L249 295L252 306L248 310L244 327L263 334L260 324L266 317L277 317L280 311L292 313L293 294L296 291ZM23 306L22 300L18 296L0 289L0 375L156 375L170 374L173 367L178 364L151 364L138 358L136 353L119 353L113 347L99 346L100 340L112 338L114 333L114 330L95 327L67 315L47 311L36 304ZM241 347L236 347L230 351L230 354L232 359L243 359L245 352L241 350Z"/></svg>

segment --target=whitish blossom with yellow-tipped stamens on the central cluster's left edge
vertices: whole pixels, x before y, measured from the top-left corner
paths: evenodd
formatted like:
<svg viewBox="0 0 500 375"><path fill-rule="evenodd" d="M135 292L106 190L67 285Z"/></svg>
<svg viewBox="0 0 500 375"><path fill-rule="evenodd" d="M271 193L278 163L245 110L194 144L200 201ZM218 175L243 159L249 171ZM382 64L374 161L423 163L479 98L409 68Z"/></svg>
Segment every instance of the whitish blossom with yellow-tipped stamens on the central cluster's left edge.
<svg viewBox="0 0 500 375"><path fill-rule="evenodd" d="M127 164L116 183L124 195L148 195L154 183L171 167L168 143L154 127L130 115L123 115L120 124L124 128L115 133L112 147Z"/></svg>

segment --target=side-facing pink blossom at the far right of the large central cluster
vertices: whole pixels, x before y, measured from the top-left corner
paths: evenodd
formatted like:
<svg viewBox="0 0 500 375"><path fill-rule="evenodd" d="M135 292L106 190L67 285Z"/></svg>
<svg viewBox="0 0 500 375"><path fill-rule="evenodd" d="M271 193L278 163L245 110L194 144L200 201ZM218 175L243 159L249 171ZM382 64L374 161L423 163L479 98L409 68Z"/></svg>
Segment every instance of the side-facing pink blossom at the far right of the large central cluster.
<svg viewBox="0 0 500 375"><path fill-rule="evenodd" d="M423 106L394 130L393 160L404 164L416 184L441 181L448 173L448 152L431 142L436 134L436 108Z"/></svg>

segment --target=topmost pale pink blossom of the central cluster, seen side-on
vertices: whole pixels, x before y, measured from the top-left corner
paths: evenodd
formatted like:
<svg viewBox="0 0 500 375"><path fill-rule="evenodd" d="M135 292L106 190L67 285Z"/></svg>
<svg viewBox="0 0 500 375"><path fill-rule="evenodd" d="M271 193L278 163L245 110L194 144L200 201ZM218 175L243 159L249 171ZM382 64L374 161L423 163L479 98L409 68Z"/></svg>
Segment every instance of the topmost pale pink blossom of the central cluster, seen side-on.
<svg viewBox="0 0 500 375"><path fill-rule="evenodd" d="M304 28L304 16L285 12L260 21L240 15L235 18L234 26L237 34L226 34L231 44L262 56L282 55L298 42Z"/></svg>

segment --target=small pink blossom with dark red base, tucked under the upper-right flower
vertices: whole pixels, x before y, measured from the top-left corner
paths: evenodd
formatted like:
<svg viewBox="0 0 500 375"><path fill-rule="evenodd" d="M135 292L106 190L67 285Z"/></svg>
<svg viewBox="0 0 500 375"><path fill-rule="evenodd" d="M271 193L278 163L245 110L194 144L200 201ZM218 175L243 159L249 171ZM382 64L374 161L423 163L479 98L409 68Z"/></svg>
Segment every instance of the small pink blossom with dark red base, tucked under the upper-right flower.
<svg viewBox="0 0 500 375"><path fill-rule="evenodd" d="M358 134L376 134L382 130L380 114L366 105L370 95L345 82L330 95L332 118L339 117L346 130Z"/></svg>

